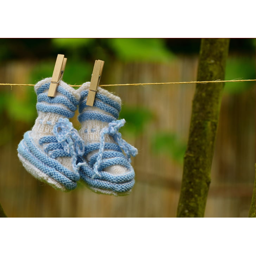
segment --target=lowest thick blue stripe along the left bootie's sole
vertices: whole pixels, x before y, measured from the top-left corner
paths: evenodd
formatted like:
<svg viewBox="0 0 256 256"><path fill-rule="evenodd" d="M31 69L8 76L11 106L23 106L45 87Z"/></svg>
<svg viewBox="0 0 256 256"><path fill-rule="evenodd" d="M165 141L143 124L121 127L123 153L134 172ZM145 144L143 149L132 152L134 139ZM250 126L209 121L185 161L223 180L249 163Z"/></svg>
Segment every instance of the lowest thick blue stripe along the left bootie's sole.
<svg viewBox="0 0 256 256"><path fill-rule="evenodd" d="M33 164L36 168L41 170L42 173L48 175L60 184L64 185L67 189L71 190L76 188L76 182L71 181L65 175L57 172L55 168L49 167L45 163L41 162L38 158L36 158L25 146L24 140L20 141L20 143L18 144L18 153L22 155L25 159L27 159L31 164Z"/></svg>

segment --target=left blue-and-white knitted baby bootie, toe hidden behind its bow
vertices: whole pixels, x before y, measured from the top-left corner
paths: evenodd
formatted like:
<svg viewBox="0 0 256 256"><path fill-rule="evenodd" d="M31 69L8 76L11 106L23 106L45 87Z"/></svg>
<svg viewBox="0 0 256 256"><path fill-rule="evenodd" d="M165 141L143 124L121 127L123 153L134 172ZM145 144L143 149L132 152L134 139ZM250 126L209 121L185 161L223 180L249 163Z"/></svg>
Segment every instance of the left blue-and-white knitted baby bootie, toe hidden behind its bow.
<svg viewBox="0 0 256 256"><path fill-rule="evenodd" d="M26 170L56 189L76 188L80 175L77 157L84 142L68 118L75 114L80 94L60 81L54 98L48 97L51 78L35 85L38 117L18 145L18 157Z"/></svg>

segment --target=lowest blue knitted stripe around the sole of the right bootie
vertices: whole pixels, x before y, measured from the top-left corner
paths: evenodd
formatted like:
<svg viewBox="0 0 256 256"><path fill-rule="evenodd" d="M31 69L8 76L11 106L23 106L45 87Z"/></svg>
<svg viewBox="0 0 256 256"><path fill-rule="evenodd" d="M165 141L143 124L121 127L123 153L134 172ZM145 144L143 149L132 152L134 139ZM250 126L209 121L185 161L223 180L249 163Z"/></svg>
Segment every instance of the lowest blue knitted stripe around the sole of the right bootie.
<svg viewBox="0 0 256 256"><path fill-rule="evenodd" d="M135 183L134 179L126 183L112 183L103 180L91 179L83 173L81 173L81 178L92 187L112 190L117 193L129 191Z"/></svg>

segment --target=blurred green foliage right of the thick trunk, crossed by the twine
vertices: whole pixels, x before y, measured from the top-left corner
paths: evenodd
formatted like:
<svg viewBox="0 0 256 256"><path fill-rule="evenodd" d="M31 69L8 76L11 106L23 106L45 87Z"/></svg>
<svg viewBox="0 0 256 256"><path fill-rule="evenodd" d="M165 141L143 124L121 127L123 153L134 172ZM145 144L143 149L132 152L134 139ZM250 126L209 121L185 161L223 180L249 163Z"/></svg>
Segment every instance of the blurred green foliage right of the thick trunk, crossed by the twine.
<svg viewBox="0 0 256 256"><path fill-rule="evenodd" d="M225 80L232 79L255 79L255 58L228 58L226 65ZM254 86L255 82L226 82L224 92L242 93Z"/></svg>

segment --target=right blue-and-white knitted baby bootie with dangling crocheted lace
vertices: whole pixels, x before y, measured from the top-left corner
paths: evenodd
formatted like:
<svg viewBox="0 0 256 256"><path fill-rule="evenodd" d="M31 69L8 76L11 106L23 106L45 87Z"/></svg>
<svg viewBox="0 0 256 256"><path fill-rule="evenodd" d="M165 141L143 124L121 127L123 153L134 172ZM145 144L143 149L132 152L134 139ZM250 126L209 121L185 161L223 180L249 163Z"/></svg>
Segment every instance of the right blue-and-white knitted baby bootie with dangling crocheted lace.
<svg viewBox="0 0 256 256"><path fill-rule="evenodd" d="M93 106L87 106L90 82L84 83L77 91L81 99L78 132L86 144L83 158L79 158L80 177L97 193L127 195L134 185L134 169L131 155L137 149L121 138L119 128L125 120L117 120L121 110L121 99L98 88ZM123 155L123 152L126 156Z"/></svg>

